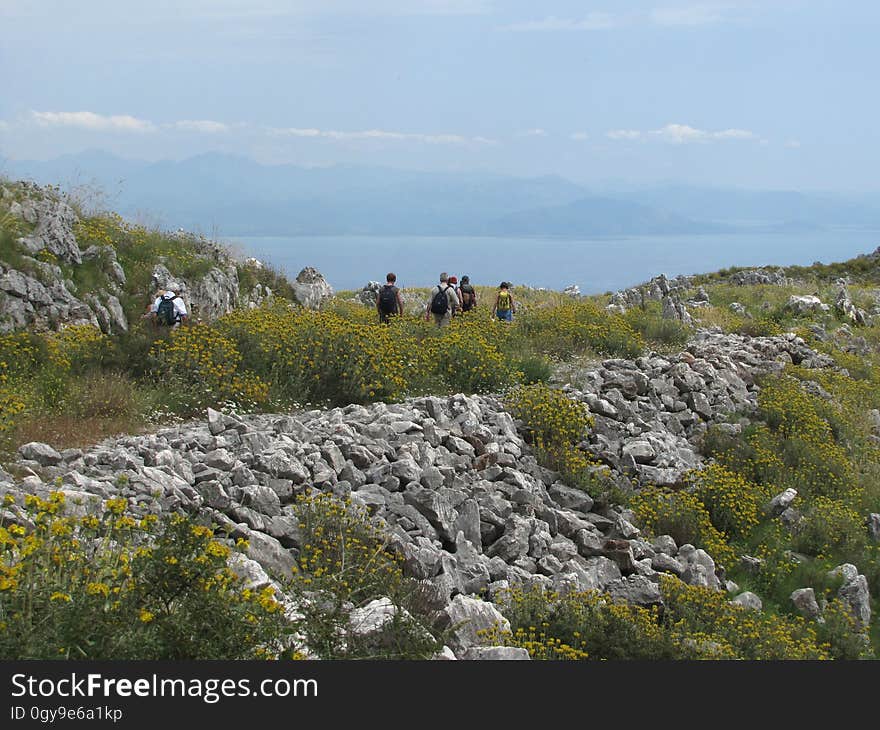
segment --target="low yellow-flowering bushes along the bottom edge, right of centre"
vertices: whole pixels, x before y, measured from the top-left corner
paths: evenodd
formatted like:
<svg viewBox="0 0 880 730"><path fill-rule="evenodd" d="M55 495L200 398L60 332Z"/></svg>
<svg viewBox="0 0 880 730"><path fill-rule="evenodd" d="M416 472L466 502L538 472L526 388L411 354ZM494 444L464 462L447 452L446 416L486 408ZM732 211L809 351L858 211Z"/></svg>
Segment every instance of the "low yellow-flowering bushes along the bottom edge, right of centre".
<svg viewBox="0 0 880 730"><path fill-rule="evenodd" d="M864 650L838 630L835 652L803 618L749 611L723 591L671 576L660 588L662 611L614 603L598 591L512 590L502 605L511 630L487 631L485 640L525 648L533 659L803 660L831 659L852 643Z"/></svg>

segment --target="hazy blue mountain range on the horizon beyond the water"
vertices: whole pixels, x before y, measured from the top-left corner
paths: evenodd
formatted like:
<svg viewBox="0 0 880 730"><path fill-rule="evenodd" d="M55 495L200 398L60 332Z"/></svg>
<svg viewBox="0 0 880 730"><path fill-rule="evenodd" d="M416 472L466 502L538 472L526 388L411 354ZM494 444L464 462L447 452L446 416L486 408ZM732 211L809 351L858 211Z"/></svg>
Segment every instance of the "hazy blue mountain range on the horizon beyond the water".
<svg viewBox="0 0 880 730"><path fill-rule="evenodd" d="M880 197L685 186L595 191L557 176L262 165L208 153L145 162L102 151L7 160L0 174L91 186L109 207L217 237L682 235L880 229Z"/></svg>

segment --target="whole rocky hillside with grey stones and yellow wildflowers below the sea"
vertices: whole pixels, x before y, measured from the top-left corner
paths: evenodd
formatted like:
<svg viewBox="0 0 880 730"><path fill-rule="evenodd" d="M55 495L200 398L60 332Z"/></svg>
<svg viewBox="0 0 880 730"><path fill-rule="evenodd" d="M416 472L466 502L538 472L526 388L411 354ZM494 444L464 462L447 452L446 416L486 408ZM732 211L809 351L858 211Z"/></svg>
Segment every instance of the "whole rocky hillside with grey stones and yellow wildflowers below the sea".
<svg viewBox="0 0 880 730"><path fill-rule="evenodd" d="M438 331L415 295L385 327L370 284L338 301L312 269L2 195L0 609L24 540L183 515L305 657L875 653L876 254L530 290L513 327ZM204 325L126 339L158 288ZM149 399L138 434L25 438Z"/></svg>

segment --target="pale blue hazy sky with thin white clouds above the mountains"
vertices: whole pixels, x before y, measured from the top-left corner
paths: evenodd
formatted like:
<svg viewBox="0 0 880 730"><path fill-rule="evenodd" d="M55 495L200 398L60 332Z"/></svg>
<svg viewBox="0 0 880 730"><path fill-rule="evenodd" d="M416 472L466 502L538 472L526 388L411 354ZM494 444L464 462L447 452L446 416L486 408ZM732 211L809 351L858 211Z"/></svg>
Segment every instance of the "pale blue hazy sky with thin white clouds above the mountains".
<svg viewBox="0 0 880 730"><path fill-rule="evenodd" d="M0 156L880 189L877 0L0 0Z"/></svg>

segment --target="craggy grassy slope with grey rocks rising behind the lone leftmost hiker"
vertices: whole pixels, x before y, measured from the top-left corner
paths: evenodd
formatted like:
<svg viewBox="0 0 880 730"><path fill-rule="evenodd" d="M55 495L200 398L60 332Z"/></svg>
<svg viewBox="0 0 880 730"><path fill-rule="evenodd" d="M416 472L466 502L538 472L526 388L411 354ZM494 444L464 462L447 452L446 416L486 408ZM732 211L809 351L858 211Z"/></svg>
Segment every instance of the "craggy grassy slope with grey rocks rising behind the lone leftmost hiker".
<svg viewBox="0 0 880 730"><path fill-rule="evenodd" d="M0 333L77 324L124 332L160 289L206 321L279 294L311 307L332 295L314 269L273 291L259 261L236 261L203 236L80 215L51 186L0 182L0 217Z"/></svg>

